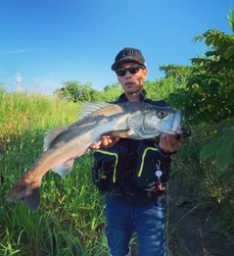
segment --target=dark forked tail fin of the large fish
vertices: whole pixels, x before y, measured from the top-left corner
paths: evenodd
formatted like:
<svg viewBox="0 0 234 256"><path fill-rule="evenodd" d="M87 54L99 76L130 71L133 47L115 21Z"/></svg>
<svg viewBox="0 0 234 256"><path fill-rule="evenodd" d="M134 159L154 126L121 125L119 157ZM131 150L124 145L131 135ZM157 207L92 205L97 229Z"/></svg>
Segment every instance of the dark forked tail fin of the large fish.
<svg viewBox="0 0 234 256"><path fill-rule="evenodd" d="M12 202L23 201L28 209L35 212L40 204L40 182L19 179L7 195Z"/></svg>

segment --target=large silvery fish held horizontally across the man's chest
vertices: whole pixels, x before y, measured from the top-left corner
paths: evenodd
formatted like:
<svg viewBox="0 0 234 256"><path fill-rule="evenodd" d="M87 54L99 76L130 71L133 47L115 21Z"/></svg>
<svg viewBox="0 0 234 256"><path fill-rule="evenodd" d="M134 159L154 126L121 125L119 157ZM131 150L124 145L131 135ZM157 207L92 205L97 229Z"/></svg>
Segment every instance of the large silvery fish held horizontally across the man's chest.
<svg viewBox="0 0 234 256"><path fill-rule="evenodd" d="M77 122L46 132L43 153L15 183L7 200L23 201L35 212L42 177L52 169L65 178L74 159L88 152L91 144L100 143L102 135L144 139L162 133L179 134L184 131L180 120L179 111L141 102L85 103Z"/></svg>

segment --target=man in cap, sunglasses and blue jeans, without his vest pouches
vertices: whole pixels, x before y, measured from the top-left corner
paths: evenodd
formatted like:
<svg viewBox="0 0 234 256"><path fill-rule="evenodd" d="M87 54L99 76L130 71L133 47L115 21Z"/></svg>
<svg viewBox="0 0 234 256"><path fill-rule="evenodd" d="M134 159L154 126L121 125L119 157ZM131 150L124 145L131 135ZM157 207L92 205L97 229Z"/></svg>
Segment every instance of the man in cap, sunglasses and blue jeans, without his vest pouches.
<svg viewBox="0 0 234 256"><path fill-rule="evenodd" d="M117 80L124 90L116 103L146 102L157 106L167 106L164 101L152 101L146 97L143 81L148 71L140 50L122 49L117 54L112 70L116 72ZM163 185L154 183L155 185L150 186L149 184L149 189L139 188L135 182L136 163L141 157L138 150L140 143L144 142L103 136L100 145L108 149L124 145L126 150L125 161L121 168L123 180L117 187L106 193L106 235L112 256L131 255L129 240L133 230L137 232L141 256L166 255L164 182ZM181 140L177 140L173 135L162 134L158 144L154 143L153 146L158 149L155 158L161 164L161 168L157 170L161 170L164 166L165 172L168 172L171 161L169 156L179 150ZM91 148L98 149L99 145L92 145ZM155 173L156 169L148 171Z"/></svg>

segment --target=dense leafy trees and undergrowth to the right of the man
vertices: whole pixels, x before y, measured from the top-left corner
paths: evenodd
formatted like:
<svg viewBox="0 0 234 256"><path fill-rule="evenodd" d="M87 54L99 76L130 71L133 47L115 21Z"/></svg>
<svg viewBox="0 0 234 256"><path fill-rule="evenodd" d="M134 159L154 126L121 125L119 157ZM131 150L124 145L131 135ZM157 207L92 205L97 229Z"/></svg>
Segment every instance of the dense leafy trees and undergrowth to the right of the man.
<svg viewBox="0 0 234 256"><path fill-rule="evenodd" d="M232 10L227 18L234 32ZM192 59L185 87L166 98L183 110L186 126L193 131L193 139L186 140L177 155L180 168L174 177L187 194L202 198L211 214L216 213L215 228L233 234L234 33L209 29L194 37L194 42L198 40L205 42L208 51Z"/></svg>

